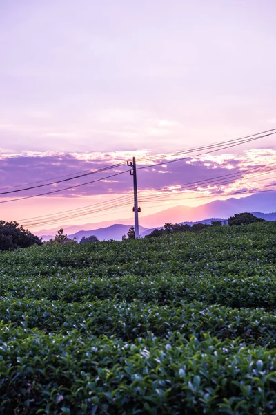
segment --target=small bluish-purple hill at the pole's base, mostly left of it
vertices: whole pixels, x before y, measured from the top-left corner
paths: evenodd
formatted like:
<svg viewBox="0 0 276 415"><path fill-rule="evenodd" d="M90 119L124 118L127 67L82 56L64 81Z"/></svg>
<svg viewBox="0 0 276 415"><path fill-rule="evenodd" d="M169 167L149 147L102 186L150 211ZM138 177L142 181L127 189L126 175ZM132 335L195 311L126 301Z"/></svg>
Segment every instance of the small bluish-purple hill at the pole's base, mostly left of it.
<svg viewBox="0 0 276 415"><path fill-rule="evenodd" d="M115 239L115 241L121 241L121 237L124 234L128 233L128 230L131 225L112 225L108 226L107 228L99 228L94 230L79 230L75 234L68 235L68 238L73 239L76 237L77 241L79 242L82 237L90 237L91 235L95 235L99 239L99 241L104 241L108 239ZM143 226L139 226L139 233L143 233L147 230L147 228L143 228Z"/></svg>

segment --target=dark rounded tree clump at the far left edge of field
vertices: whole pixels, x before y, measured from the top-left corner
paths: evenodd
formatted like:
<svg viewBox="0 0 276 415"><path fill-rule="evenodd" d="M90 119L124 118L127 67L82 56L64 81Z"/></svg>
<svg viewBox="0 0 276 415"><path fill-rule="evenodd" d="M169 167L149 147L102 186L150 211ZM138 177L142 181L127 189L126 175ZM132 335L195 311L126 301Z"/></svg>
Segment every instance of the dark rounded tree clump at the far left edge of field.
<svg viewBox="0 0 276 415"><path fill-rule="evenodd" d="M0 221L0 250L28 248L32 245L42 245L41 239L16 221Z"/></svg>

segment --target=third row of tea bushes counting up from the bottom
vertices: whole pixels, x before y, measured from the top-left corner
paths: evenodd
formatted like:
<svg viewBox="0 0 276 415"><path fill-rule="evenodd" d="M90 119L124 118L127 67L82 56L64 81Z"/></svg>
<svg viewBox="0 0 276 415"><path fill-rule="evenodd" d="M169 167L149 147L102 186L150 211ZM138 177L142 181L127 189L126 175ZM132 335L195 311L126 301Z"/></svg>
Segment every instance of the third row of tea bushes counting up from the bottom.
<svg viewBox="0 0 276 415"><path fill-rule="evenodd" d="M206 304L230 307L264 307L273 310L276 304L276 279L274 275L243 277L242 275L204 274L201 277L186 275L156 275L140 277L73 277L54 275L48 278L10 277L1 284L2 298L30 298L88 302L117 297L132 302L181 303L196 300Z"/></svg>

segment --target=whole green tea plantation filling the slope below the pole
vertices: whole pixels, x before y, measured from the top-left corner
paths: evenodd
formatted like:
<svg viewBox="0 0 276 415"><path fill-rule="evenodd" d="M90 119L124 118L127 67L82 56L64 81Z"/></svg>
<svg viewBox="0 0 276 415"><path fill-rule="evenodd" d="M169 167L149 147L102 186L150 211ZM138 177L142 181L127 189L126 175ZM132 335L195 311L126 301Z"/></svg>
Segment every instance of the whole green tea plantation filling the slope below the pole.
<svg viewBox="0 0 276 415"><path fill-rule="evenodd" d="M0 414L276 414L276 223L0 254Z"/></svg>

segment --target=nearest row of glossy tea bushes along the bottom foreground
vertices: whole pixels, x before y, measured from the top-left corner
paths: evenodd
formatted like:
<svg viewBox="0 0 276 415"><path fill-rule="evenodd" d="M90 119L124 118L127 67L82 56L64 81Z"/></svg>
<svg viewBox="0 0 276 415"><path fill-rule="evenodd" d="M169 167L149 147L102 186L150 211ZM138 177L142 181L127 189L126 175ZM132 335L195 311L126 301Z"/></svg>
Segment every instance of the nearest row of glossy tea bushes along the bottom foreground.
<svg viewBox="0 0 276 415"><path fill-rule="evenodd" d="M275 349L177 333L0 334L2 414L275 414Z"/></svg>

